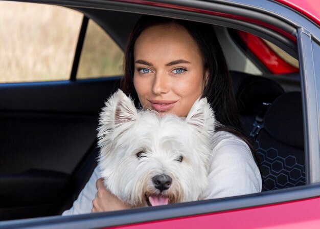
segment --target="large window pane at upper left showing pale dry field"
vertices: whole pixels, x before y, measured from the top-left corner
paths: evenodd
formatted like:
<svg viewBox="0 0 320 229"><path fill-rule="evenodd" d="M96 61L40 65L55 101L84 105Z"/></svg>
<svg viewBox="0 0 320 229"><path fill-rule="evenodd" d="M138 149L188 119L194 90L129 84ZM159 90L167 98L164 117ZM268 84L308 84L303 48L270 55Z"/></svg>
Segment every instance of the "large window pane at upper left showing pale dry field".
<svg viewBox="0 0 320 229"><path fill-rule="evenodd" d="M70 78L83 14L0 1L0 82Z"/></svg>

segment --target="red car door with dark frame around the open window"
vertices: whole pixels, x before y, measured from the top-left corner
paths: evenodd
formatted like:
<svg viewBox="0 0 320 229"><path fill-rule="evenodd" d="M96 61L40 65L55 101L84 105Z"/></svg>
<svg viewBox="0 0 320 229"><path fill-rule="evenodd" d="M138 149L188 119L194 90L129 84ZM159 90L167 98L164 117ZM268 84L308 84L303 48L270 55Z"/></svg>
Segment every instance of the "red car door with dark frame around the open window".
<svg viewBox="0 0 320 229"><path fill-rule="evenodd" d="M59 1L56 1L59 2ZM70 1L71 4L72 1ZM60 4L62 4L60 2ZM72 5L72 4L71 4ZM80 7L79 7L80 5ZM306 185L259 194L178 203L118 212L47 217L0 223L4 228L317 228L319 224L318 26L275 1L101 1L74 7L176 16L253 33L299 54L303 101ZM83 7L83 8L82 8ZM86 8L88 7L88 8ZM84 10L85 9L85 10ZM99 10L98 10L99 9ZM101 12L101 11L100 11ZM284 36L286 38L284 38ZM294 46L291 46L292 42ZM293 50L294 51L294 50ZM281 78L280 78L281 79ZM283 79L281 79L283 80ZM281 81L280 80L280 81ZM299 81L300 83L300 81ZM288 133L292 134L292 133ZM294 134L294 133L293 133ZM235 187L236 188L236 187Z"/></svg>

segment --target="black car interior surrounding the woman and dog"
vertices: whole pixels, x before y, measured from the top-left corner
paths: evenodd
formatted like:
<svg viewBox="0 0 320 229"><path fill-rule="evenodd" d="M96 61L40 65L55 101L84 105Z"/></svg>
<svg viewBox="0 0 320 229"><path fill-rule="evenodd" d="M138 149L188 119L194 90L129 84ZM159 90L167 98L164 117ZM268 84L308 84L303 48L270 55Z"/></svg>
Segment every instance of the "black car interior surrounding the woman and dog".
<svg viewBox="0 0 320 229"><path fill-rule="evenodd" d="M86 23L97 23L121 49L141 16L73 9L84 14ZM80 34L85 29L82 24ZM234 29L214 29L230 64L244 133L260 160L263 191L306 184L299 70L272 73ZM80 35L75 59L83 39ZM99 112L120 78L80 80L75 70L70 80L0 84L0 220L60 215L72 206L97 165Z"/></svg>

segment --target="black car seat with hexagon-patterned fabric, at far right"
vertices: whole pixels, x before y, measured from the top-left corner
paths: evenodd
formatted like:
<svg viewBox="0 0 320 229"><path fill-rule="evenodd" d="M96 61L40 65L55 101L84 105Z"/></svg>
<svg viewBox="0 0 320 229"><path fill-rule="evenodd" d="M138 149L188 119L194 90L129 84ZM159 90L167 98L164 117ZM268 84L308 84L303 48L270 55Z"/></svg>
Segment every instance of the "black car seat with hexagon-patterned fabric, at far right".
<svg viewBox="0 0 320 229"><path fill-rule="evenodd" d="M300 92L285 93L272 103L254 146L261 163L263 191L306 183Z"/></svg>

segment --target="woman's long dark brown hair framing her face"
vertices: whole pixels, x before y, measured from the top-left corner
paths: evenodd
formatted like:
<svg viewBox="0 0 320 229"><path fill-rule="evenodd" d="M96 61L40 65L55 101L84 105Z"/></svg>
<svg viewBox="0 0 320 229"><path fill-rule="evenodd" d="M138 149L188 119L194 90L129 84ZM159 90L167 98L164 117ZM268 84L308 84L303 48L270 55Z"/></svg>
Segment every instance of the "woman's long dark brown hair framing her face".
<svg viewBox="0 0 320 229"><path fill-rule="evenodd" d="M253 145L243 134L242 124L238 118L231 76L212 25L167 17L142 16L135 24L127 41L124 78L121 81L123 92L134 99L136 107L140 107L138 95L133 85L134 44L142 31L156 25L181 25L194 38L202 55L203 68L209 71L207 86L204 88L202 97L207 97L215 112L216 119L220 123L216 127L216 131L227 131L244 140L258 163Z"/></svg>

